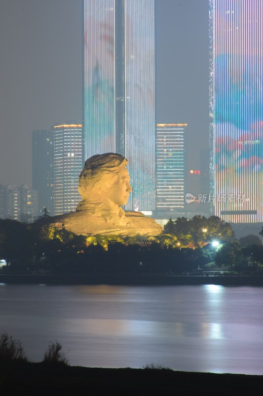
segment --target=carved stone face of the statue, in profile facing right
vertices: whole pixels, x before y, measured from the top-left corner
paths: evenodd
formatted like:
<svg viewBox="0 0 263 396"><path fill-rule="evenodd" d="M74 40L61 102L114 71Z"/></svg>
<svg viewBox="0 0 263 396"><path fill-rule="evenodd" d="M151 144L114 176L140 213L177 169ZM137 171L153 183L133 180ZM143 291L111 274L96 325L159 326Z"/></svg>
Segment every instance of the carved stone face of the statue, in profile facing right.
<svg viewBox="0 0 263 396"><path fill-rule="evenodd" d="M113 203L120 206L126 205L131 192L130 176L127 169L123 166L120 168L118 179L107 190L106 196Z"/></svg>

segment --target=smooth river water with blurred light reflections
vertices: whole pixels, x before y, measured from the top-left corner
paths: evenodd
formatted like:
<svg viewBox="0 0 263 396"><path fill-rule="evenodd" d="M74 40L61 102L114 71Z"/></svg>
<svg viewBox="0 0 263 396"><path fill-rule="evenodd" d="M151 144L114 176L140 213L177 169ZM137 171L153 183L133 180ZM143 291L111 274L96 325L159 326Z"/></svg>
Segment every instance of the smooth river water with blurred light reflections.
<svg viewBox="0 0 263 396"><path fill-rule="evenodd" d="M71 365L263 374L263 288L0 284L0 333L41 361L57 340Z"/></svg>

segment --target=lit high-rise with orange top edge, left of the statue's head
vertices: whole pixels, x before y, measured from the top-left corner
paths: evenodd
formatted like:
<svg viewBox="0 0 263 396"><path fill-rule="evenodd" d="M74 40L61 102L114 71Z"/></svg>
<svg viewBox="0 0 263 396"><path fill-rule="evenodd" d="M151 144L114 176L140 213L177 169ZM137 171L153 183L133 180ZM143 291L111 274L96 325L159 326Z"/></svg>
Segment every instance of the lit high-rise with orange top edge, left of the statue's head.
<svg viewBox="0 0 263 396"><path fill-rule="evenodd" d="M76 210L78 176L82 171L82 125L68 122L53 127L54 142L54 214Z"/></svg>

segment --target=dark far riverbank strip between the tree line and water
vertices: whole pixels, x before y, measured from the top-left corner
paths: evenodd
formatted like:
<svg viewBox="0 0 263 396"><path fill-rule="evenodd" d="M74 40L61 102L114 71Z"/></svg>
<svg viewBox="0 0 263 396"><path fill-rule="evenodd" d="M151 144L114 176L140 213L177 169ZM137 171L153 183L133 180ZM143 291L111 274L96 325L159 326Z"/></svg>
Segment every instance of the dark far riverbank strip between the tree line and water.
<svg viewBox="0 0 263 396"><path fill-rule="evenodd" d="M165 276L165 275L9 275L0 283L45 285L222 285L263 286L263 276Z"/></svg>

